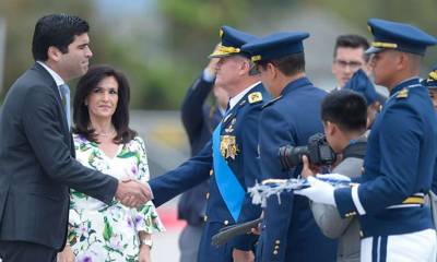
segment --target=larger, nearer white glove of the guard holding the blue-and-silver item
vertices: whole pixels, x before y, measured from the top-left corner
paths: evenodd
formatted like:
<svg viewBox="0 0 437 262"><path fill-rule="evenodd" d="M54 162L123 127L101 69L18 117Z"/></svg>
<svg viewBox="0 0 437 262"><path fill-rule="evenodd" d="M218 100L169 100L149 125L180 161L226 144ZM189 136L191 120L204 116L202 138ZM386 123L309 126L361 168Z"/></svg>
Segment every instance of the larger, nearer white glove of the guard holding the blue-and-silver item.
<svg viewBox="0 0 437 262"><path fill-rule="evenodd" d="M315 177L307 178L310 187L300 190L294 190L295 194L305 195L316 203L335 205L334 187L328 182L323 182Z"/></svg>

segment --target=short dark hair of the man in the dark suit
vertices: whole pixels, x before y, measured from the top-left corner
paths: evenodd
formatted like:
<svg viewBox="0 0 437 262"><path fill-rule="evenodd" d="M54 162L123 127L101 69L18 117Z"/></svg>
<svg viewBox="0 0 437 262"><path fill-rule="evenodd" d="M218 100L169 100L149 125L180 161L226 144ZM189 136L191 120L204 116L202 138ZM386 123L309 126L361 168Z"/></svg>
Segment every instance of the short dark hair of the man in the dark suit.
<svg viewBox="0 0 437 262"><path fill-rule="evenodd" d="M32 55L35 60L46 61L50 46L67 53L68 46L74 40L74 37L88 31L88 23L78 16L63 13L43 16L35 25Z"/></svg>

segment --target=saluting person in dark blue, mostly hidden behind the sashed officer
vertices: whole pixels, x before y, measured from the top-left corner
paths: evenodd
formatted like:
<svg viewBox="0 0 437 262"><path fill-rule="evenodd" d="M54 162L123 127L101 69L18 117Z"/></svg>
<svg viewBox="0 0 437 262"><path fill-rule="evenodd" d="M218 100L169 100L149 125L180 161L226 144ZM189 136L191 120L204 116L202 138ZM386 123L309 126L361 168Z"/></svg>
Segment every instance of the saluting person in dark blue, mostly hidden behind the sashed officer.
<svg viewBox="0 0 437 262"><path fill-rule="evenodd" d="M190 142L191 156L198 154L211 140L212 131L222 120L229 99L225 88L214 85L217 61L218 58L210 60L202 75L188 90L180 109L184 128ZM215 97L212 106L205 103L211 91ZM192 262L197 259L204 227L208 188L206 180L180 196L178 218L187 222L179 236L180 262Z"/></svg>

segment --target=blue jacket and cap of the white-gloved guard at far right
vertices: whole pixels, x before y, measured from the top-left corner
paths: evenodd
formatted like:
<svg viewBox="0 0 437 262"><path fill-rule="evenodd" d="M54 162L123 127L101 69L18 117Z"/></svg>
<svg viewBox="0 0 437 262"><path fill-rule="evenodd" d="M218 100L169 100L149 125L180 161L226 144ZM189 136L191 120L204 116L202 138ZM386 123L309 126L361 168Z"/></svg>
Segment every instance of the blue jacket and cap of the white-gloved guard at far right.
<svg viewBox="0 0 437 262"><path fill-rule="evenodd" d="M423 56L437 44L411 25L376 19L368 25L375 36L370 53L395 49ZM386 261L388 236L433 228L423 198L432 186L436 135L435 111L418 78L395 85L368 139L362 183L334 191L343 217L359 214L362 236L373 240L371 259Z"/></svg>

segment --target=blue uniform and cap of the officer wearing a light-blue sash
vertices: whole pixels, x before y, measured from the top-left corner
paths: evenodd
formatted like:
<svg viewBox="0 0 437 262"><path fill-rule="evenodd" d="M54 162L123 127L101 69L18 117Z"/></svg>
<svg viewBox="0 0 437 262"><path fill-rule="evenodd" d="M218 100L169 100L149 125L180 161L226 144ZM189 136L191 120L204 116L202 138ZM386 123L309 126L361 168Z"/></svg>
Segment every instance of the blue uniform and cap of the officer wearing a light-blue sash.
<svg viewBox="0 0 437 262"><path fill-rule="evenodd" d="M240 47L255 36L245 34L229 26L221 29L222 43L210 57L228 59L241 56ZM218 62L220 63L220 62ZM222 72L218 70L217 79ZM212 141L194 157L177 169L150 181L154 194L153 202L160 205L175 195L191 188L201 180L210 178L205 227L199 246L199 262L233 261L233 249L251 251L257 237L245 235L221 247L214 247L211 238L225 226L258 218L259 206L251 203L247 188L259 180L258 120L261 107L269 99L261 82L250 78L252 84L229 100L228 110L217 128L213 131ZM206 177L204 168L211 169Z"/></svg>

